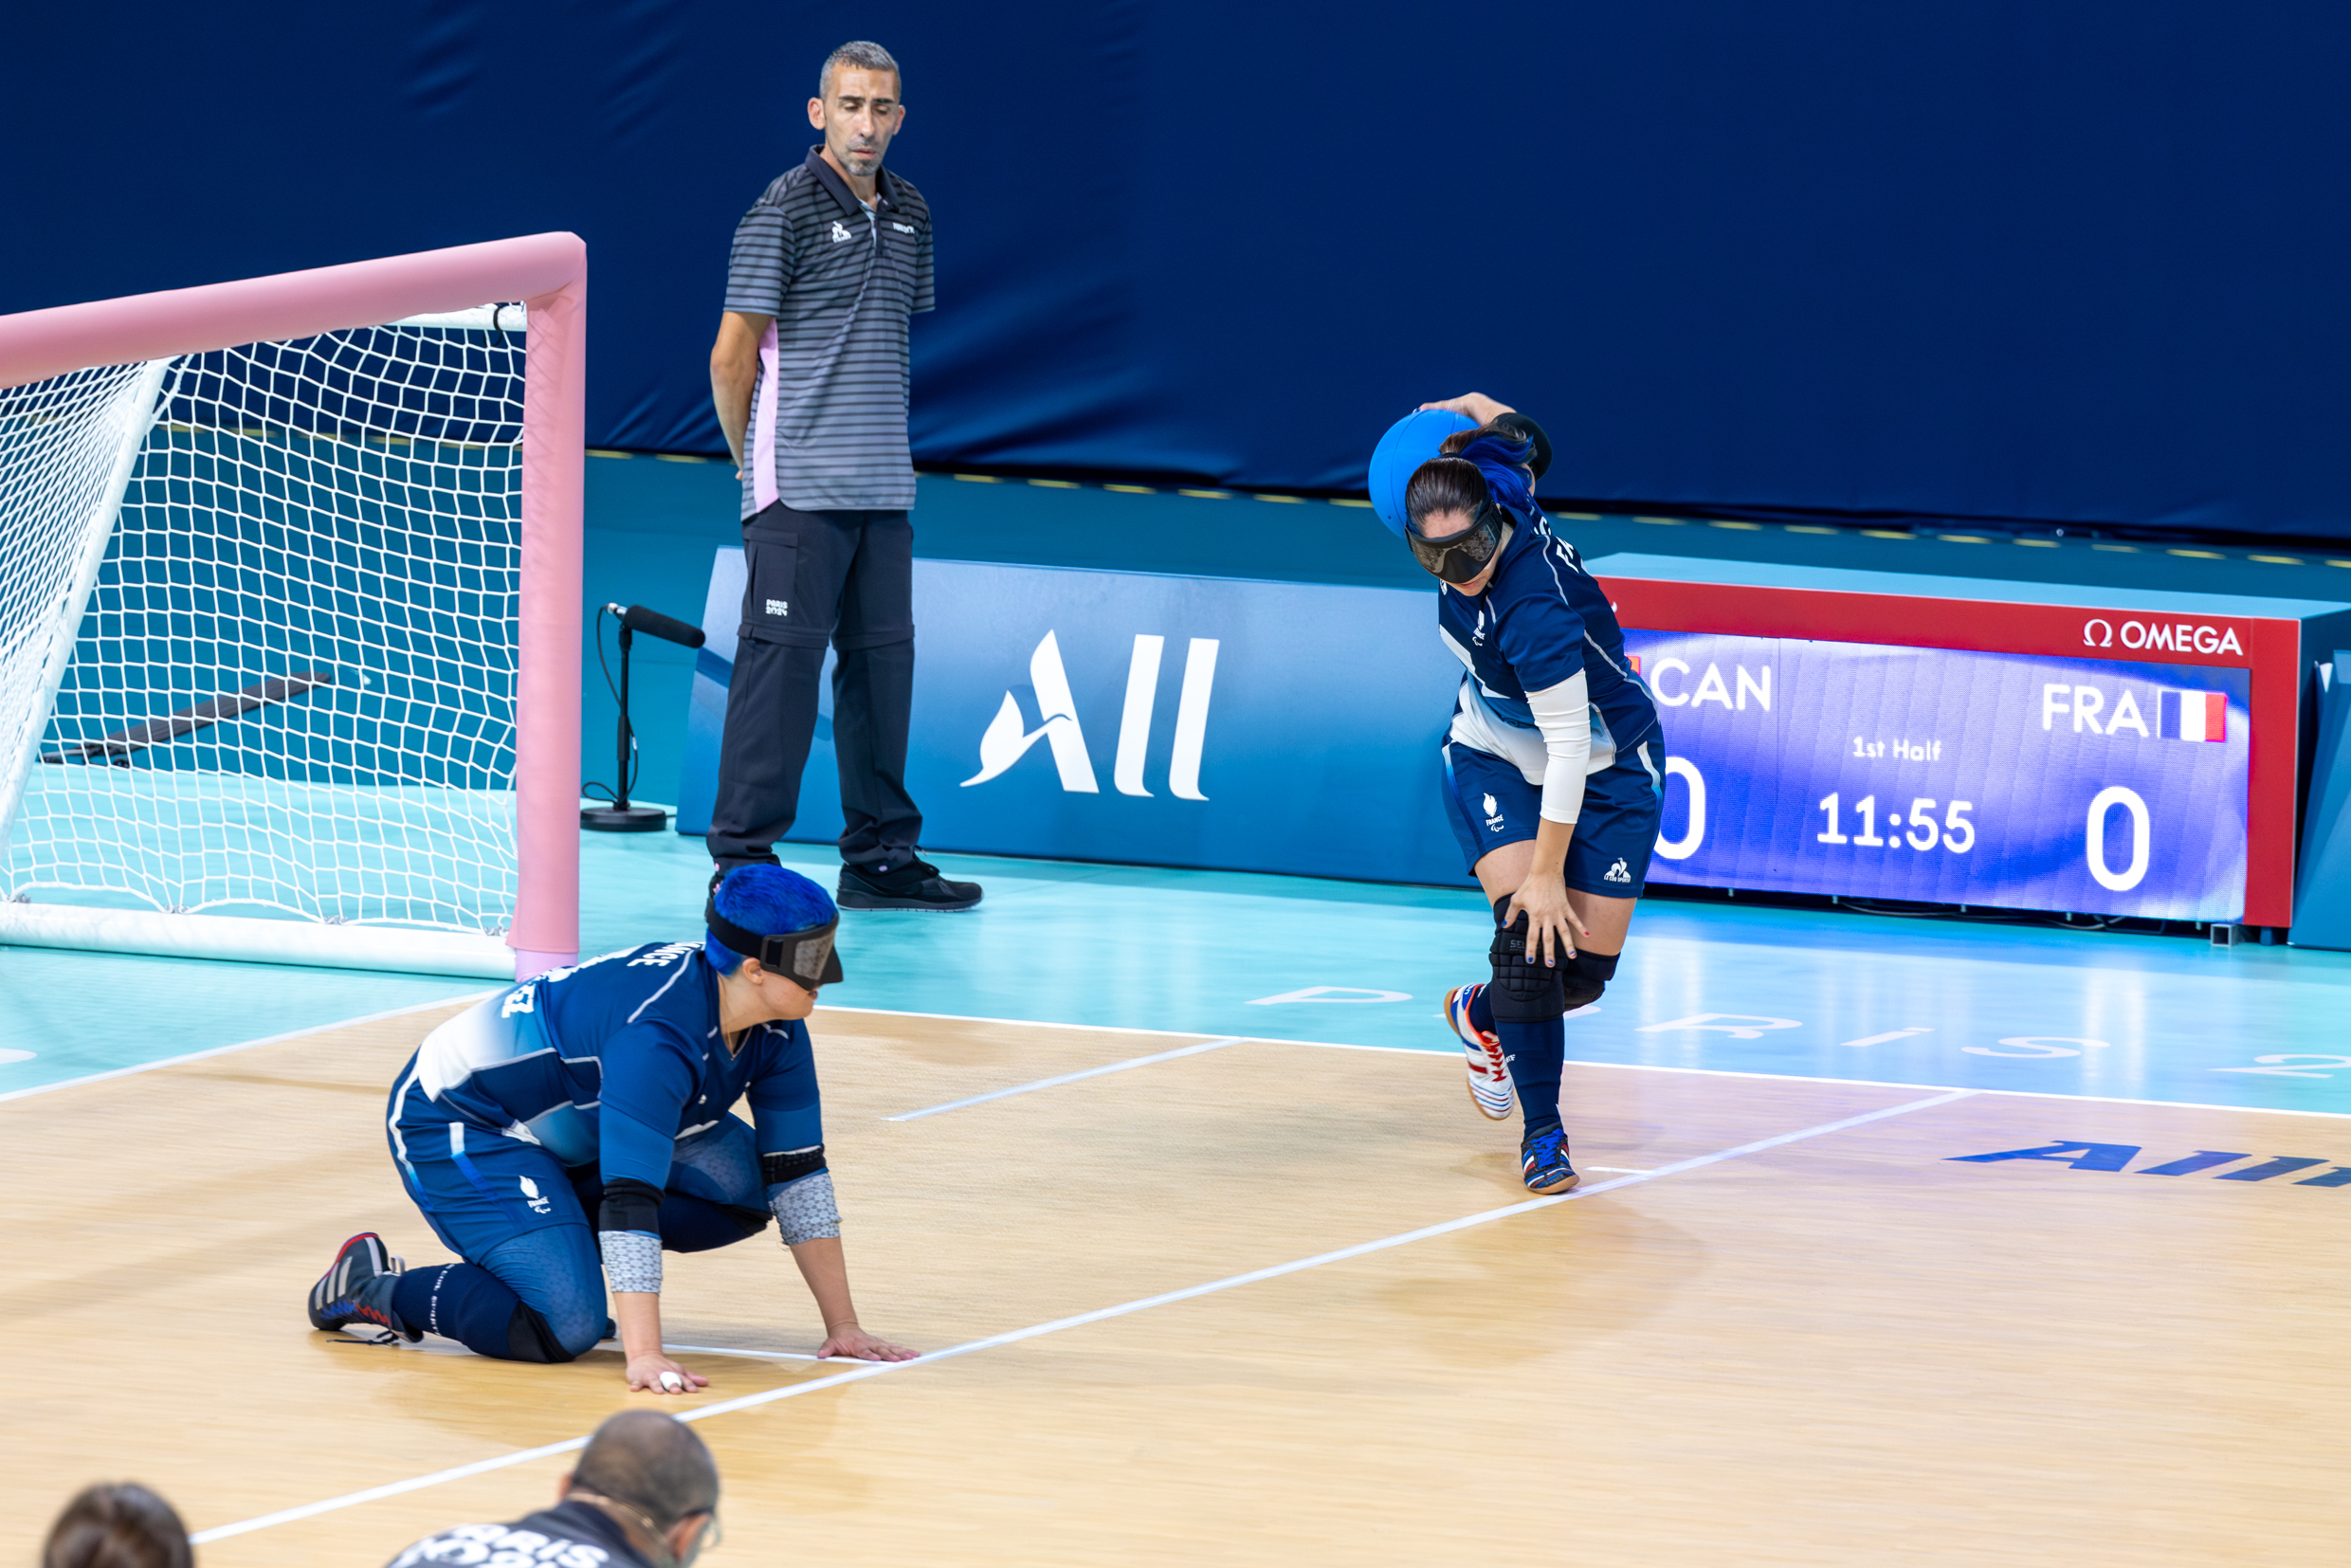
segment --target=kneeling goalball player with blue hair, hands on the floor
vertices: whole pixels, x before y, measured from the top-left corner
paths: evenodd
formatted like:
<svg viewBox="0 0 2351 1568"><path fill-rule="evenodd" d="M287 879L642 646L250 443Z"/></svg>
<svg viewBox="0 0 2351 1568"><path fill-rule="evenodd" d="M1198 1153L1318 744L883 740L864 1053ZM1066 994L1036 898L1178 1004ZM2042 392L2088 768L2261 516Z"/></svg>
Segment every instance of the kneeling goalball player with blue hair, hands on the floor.
<svg viewBox="0 0 2351 1568"><path fill-rule="evenodd" d="M818 1356L915 1356L858 1326L825 1171L802 1020L842 978L839 914L806 877L743 865L703 922L701 943L548 971L426 1037L393 1086L393 1164L463 1262L404 1269L362 1232L310 1288L313 1328L571 1361L614 1331L609 1284L628 1387L677 1394L708 1378L661 1349L663 1248L773 1220L825 1319Z"/></svg>

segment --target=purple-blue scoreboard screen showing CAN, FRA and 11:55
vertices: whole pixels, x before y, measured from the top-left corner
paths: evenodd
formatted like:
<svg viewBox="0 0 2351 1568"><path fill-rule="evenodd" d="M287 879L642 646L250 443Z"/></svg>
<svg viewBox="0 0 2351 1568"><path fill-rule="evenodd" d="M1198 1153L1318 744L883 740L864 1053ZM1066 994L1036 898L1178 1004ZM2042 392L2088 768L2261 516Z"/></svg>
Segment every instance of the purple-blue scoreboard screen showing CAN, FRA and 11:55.
<svg viewBox="0 0 2351 1568"><path fill-rule="evenodd" d="M2243 919L2248 670L1641 630L1625 646L1665 724L1657 882Z"/></svg>

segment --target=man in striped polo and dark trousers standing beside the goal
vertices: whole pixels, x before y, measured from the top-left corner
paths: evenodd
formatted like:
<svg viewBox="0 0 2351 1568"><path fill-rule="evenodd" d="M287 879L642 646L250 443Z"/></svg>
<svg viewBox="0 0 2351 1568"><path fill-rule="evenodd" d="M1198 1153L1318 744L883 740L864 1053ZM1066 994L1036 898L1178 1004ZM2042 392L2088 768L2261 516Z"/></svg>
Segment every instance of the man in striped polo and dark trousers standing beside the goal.
<svg viewBox="0 0 2351 1568"><path fill-rule="evenodd" d="M905 125L898 61L835 49L809 99L823 146L736 226L710 397L743 475L743 630L726 693L712 886L776 863L799 813L825 644L842 769L844 910L969 910L980 884L917 853L907 317L931 310L931 209L882 169Z"/></svg>

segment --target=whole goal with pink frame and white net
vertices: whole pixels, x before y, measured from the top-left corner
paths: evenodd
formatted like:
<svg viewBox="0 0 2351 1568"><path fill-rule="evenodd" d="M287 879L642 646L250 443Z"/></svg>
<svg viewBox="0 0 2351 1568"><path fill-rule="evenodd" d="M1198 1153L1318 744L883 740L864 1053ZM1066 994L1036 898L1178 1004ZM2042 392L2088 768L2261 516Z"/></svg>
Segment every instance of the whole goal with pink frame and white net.
<svg viewBox="0 0 2351 1568"><path fill-rule="evenodd" d="M576 961L585 284L548 233L0 317L0 943Z"/></svg>

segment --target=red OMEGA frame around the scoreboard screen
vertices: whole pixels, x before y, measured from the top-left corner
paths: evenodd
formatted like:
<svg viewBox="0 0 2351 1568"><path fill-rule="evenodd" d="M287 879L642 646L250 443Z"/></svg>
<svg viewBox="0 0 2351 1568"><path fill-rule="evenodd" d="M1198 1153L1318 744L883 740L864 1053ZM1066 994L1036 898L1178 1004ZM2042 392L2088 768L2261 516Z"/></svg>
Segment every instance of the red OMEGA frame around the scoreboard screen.
<svg viewBox="0 0 2351 1568"><path fill-rule="evenodd" d="M1617 623L1643 632L1881 642L1970 654L2045 654L2252 672L2245 802L2245 924L2295 919L2295 762L2302 724L2302 623L2177 616L2099 604L1925 599L1827 588L1747 588L1603 576Z"/></svg>

